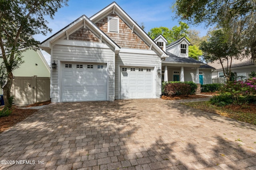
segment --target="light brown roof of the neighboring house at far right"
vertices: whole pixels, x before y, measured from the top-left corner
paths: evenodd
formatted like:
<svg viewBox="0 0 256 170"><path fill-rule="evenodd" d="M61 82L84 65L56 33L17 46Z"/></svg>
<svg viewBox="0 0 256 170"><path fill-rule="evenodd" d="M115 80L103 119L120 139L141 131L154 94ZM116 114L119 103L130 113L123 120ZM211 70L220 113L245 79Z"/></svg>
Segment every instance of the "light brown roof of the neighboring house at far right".
<svg viewBox="0 0 256 170"><path fill-rule="evenodd" d="M219 63L219 61L214 61L212 63L208 63L208 65L216 68L216 70L222 69L222 66ZM223 61L223 66L224 66L224 68L227 67L227 61L226 60ZM232 59L231 68L241 67L241 66L256 66L256 65L254 64L254 62L251 59L248 59L247 57L244 57L241 60L239 60L239 59Z"/></svg>

